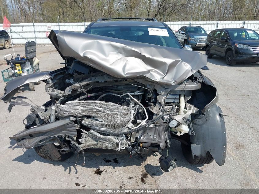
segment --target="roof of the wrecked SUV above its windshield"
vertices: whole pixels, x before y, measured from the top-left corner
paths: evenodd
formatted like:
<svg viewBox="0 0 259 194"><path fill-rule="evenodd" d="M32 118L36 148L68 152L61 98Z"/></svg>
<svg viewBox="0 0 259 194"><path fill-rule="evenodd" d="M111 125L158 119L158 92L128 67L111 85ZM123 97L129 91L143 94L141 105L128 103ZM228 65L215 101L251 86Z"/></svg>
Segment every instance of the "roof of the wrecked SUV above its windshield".
<svg viewBox="0 0 259 194"><path fill-rule="evenodd" d="M116 20L116 21L96 21L91 27L97 26L122 26L122 25L132 25L132 26L157 26L166 27L162 22L159 21L137 21L137 20Z"/></svg>

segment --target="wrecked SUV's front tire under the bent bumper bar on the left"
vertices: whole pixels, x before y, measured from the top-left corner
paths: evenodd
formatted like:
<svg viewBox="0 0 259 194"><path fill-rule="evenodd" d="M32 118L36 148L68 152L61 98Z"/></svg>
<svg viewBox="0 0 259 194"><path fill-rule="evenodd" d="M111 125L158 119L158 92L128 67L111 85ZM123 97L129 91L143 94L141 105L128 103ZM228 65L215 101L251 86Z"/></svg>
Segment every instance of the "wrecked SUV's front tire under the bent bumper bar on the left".
<svg viewBox="0 0 259 194"><path fill-rule="evenodd" d="M53 143L48 143L34 148L34 150L40 157L51 161L64 161L74 154L74 152L61 154L59 149L61 149L61 147L55 146Z"/></svg>

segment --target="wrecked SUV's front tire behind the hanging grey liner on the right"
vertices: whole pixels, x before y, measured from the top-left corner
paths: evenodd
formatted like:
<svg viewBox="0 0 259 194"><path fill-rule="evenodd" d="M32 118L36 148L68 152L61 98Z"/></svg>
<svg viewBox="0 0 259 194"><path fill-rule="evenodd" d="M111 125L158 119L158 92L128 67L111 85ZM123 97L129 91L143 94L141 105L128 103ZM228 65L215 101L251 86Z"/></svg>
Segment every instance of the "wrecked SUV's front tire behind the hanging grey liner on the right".
<svg viewBox="0 0 259 194"><path fill-rule="evenodd" d="M214 160L209 152L206 153L205 158L199 158L196 155L194 156L194 158L192 158L191 146L181 143L181 147L185 159L191 164L210 164Z"/></svg>

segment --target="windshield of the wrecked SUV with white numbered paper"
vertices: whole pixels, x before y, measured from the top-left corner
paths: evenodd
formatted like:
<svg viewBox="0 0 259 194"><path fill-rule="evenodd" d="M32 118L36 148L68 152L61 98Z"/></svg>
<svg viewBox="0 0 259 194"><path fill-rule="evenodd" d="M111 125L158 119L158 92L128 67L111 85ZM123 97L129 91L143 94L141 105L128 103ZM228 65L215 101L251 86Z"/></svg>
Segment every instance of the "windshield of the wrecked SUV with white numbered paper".
<svg viewBox="0 0 259 194"><path fill-rule="evenodd" d="M166 27L101 26L90 27L84 33L182 49L173 32Z"/></svg>

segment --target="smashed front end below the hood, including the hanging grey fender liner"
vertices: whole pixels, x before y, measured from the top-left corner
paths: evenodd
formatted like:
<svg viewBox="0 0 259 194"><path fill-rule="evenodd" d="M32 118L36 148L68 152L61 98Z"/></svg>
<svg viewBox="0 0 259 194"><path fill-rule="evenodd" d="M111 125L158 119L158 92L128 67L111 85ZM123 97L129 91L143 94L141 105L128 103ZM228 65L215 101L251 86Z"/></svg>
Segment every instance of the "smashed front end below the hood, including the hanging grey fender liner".
<svg viewBox="0 0 259 194"><path fill-rule="evenodd" d="M176 139L188 146L192 158L210 153L224 164L225 124L215 104L218 93L200 71L181 83L161 85L145 78L117 78L76 59L65 62L59 70L27 76L28 82L46 83L51 100L43 106L13 97L17 86L12 92L7 86L1 99L15 100L9 111L17 105L31 107L25 129L10 137L17 145L29 149L53 143L61 154L151 155ZM167 170L175 165L172 161L169 156L159 159Z"/></svg>

